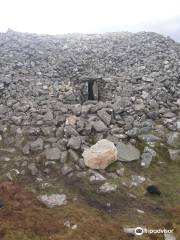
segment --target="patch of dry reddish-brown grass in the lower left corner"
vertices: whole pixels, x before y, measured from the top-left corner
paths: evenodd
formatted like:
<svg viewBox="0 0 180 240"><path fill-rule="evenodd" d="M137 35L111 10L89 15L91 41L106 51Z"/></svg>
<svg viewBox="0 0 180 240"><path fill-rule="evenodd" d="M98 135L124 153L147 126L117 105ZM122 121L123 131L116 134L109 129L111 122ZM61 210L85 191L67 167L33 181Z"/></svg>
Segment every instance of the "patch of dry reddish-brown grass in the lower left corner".
<svg viewBox="0 0 180 240"><path fill-rule="evenodd" d="M32 193L9 182L0 184L0 196L5 204L0 210L1 240L130 239L115 219L81 204L47 209ZM67 220L77 224L77 229L64 226Z"/></svg>

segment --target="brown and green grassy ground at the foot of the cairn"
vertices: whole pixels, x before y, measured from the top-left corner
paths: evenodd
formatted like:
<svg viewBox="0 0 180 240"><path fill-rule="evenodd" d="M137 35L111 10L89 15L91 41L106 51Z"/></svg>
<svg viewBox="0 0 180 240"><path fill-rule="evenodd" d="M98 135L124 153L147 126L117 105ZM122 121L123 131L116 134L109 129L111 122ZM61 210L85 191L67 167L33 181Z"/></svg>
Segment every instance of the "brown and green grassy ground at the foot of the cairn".
<svg viewBox="0 0 180 240"><path fill-rule="evenodd" d="M137 226L174 229L177 240L180 239L180 162L171 161L164 146L157 145L156 152L148 169L138 161L124 163L125 175L112 180L118 184L118 191L107 195L97 194L97 185L89 184L86 177L57 177L55 171L47 179L50 187L45 189L32 177L15 178L16 183L1 180L0 200L4 207L0 208L0 240L128 240L137 237L126 235L123 227ZM16 165L10 162L7 171L9 167ZM138 187L124 186L122 183L129 183L132 174L144 176L146 182ZM149 184L156 185L161 196L146 194ZM37 201L37 194L61 191L68 196L65 206L47 209ZM66 221L77 228L65 226ZM144 234L139 239L164 238L161 234Z"/></svg>

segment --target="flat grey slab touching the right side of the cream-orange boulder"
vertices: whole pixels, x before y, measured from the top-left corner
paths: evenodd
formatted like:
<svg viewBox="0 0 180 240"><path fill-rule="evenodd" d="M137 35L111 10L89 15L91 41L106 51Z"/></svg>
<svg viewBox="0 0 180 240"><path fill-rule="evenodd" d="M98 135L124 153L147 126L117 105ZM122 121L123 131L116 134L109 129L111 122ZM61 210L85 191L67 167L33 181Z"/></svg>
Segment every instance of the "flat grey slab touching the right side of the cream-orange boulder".
<svg viewBox="0 0 180 240"><path fill-rule="evenodd" d="M140 158L140 151L130 143L125 144L123 142L119 142L117 144L117 150L118 160L120 161L130 162Z"/></svg>

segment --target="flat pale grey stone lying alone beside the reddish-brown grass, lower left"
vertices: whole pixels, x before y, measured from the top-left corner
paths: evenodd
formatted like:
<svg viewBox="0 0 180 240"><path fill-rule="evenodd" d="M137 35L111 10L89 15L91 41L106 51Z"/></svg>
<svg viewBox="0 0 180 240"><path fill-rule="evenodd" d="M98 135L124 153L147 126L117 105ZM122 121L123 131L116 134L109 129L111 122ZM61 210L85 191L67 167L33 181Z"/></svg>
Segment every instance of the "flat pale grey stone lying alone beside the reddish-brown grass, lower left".
<svg viewBox="0 0 180 240"><path fill-rule="evenodd" d="M67 203L65 194L42 195L38 199L48 208L59 207Z"/></svg>

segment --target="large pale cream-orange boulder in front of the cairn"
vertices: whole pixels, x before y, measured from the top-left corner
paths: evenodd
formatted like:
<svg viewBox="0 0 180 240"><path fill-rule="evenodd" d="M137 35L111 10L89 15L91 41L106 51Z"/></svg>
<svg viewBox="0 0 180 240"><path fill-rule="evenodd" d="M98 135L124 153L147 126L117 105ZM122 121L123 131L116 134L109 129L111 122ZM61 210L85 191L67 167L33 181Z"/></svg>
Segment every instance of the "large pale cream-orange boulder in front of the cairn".
<svg viewBox="0 0 180 240"><path fill-rule="evenodd" d="M102 139L85 150L82 155L86 166L92 169L105 169L117 160L117 149L114 143Z"/></svg>

